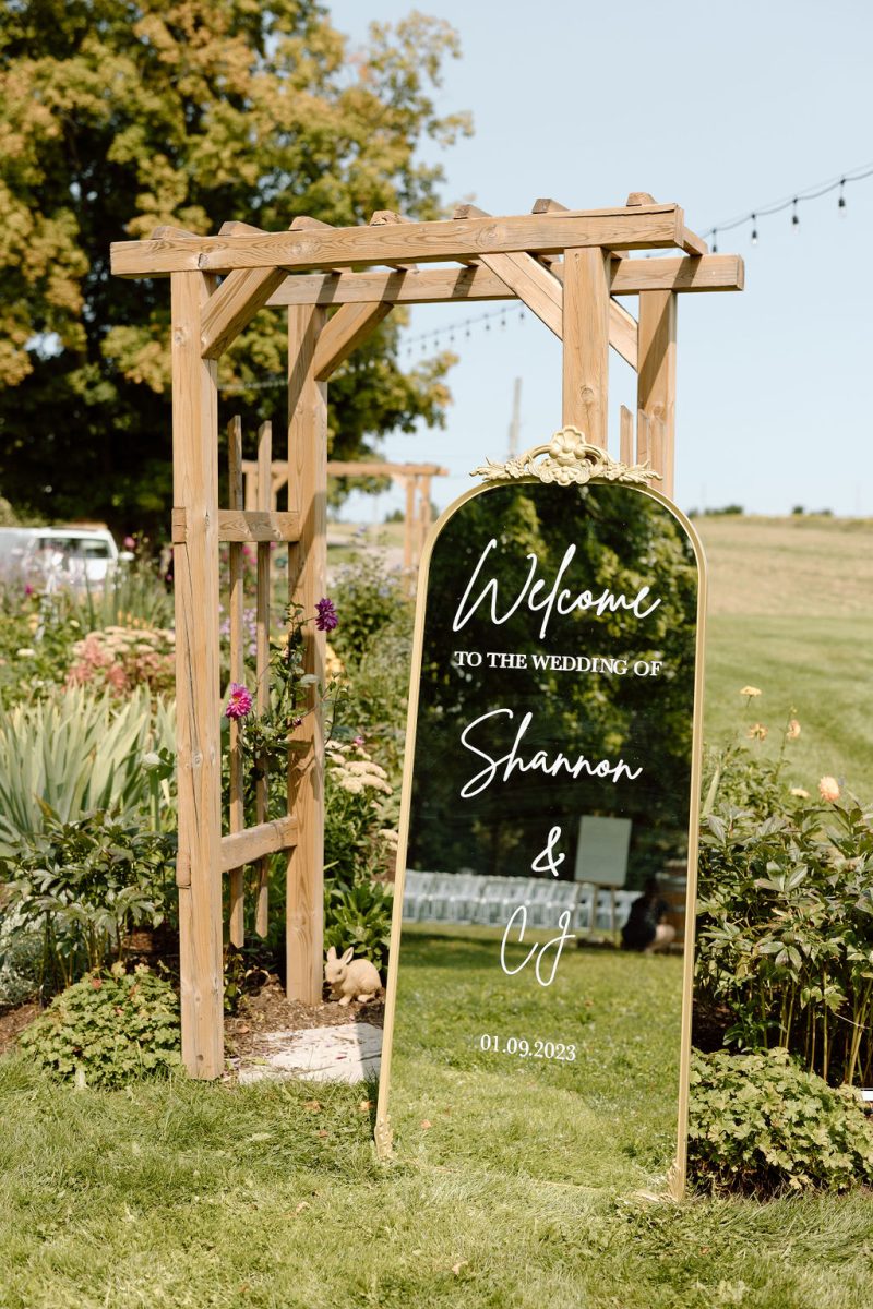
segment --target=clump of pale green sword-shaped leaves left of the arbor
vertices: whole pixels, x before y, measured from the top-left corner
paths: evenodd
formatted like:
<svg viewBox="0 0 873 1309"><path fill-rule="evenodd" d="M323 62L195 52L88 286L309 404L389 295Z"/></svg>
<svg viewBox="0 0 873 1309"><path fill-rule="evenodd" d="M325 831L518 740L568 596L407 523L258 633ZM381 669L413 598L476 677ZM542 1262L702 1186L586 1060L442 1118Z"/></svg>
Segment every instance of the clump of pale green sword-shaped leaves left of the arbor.
<svg viewBox="0 0 873 1309"><path fill-rule="evenodd" d="M0 856L42 830L46 806L62 822L92 810L130 813L149 796L143 757L175 749L171 703L140 687L127 702L73 687L34 704L0 708ZM164 821L171 791L164 780Z"/></svg>

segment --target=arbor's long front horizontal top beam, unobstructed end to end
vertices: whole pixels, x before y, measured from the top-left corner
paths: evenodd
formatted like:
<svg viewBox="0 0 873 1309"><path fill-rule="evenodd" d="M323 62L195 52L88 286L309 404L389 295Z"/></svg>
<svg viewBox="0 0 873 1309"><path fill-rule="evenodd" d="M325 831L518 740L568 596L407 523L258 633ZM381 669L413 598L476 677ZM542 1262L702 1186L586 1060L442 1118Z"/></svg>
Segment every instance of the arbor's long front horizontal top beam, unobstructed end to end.
<svg viewBox="0 0 873 1309"><path fill-rule="evenodd" d="M113 274L154 278L170 272L230 272L234 268L312 270L357 263L407 263L478 258L488 254L559 254L597 246L658 249L687 242L678 204L520 215L505 219L449 219L381 226L327 228L151 241L116 241ZM408 274L406 274L408 276Z"/></svg>

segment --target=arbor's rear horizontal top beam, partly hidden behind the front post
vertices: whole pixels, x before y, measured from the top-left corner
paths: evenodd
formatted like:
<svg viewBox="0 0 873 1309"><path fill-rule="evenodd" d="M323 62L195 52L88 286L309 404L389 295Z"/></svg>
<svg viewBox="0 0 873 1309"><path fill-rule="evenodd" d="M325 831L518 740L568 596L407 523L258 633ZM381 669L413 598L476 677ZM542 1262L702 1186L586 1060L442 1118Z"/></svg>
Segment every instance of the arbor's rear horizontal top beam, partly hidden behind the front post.
<svg viewBox="0 0 873 1309"><path fill-rule="evenodd" d="M563 279L561 262L551 274ZM677 291L686 295L709 291L742 291L743 262L736 254L708 254L700 259L613 259L610 292L636 296L643 291ZM347 305L389 300L394 305L429 305L442 301L514 300L516 293L490 268L420 268L418 272L294 274L287 278L267 304Z"/></svg>

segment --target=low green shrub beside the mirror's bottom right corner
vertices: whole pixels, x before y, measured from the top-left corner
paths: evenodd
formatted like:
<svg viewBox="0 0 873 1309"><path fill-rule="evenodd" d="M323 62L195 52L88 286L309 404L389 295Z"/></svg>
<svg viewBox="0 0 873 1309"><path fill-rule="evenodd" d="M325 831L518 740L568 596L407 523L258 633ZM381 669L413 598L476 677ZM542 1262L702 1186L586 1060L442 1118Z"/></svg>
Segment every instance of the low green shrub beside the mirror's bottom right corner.
<svg viewBox="0 0 873 1309"><path fill-rule="evenodd" d="M691 1063L688 1169L713 1191L842 1191L873 1183L873 1122L855 1092L805 1072L785 1050Z"/></svg>

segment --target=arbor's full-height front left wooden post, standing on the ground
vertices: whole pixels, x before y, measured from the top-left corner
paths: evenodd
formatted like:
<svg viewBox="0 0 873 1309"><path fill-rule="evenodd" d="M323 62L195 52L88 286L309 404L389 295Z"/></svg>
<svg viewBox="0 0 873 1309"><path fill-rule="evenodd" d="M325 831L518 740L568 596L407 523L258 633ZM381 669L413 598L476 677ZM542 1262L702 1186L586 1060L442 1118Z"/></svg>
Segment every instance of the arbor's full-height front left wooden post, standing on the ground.
<svg viewBox="0 0 873 1309"><path fill-rule="evenodd" d="M173 501L179 793L182 1058L194 1077L224 1066L221 962L221 742L219 689L217 364L200 357L213 279L171 275Z"/></svg>

